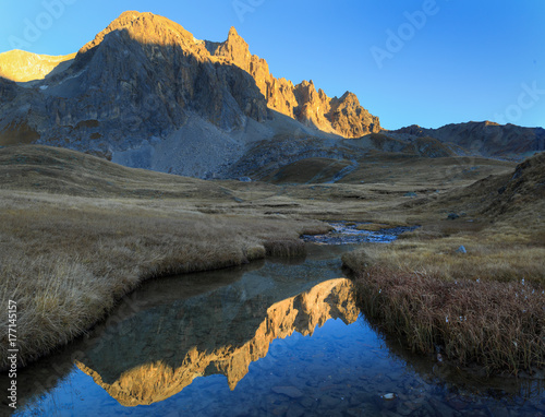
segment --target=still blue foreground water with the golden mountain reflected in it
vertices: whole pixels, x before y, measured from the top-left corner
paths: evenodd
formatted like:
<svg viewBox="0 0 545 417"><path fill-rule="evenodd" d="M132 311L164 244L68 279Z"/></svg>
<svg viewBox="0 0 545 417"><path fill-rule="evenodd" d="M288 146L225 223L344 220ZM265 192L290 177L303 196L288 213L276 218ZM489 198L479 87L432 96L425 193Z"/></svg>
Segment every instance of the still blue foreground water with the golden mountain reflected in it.
<svg viewBox="0 0 545 417"><path fill-rule="evenodd" d="M21 370L14 415L545 415L543 381L479 380L380 336L342 276L353 247L307 245L305 259L144 284Z"/></svg>

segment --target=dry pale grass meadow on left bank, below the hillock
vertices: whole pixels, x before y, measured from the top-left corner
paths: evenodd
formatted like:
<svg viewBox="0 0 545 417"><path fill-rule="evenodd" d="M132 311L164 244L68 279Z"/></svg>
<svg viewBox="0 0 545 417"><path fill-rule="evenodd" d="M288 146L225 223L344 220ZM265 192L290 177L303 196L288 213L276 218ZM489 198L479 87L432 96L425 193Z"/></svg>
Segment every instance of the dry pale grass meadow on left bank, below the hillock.
<svg viewBox="0 0 545 417"><path fill-rule="evenodd" d="M0 300L2 308L17 302L23 364L84 332L143 279L246 263L270 247L290 254L312 226L140 201L0 193ZM2 322L3 358L7 333Z"/></svg>

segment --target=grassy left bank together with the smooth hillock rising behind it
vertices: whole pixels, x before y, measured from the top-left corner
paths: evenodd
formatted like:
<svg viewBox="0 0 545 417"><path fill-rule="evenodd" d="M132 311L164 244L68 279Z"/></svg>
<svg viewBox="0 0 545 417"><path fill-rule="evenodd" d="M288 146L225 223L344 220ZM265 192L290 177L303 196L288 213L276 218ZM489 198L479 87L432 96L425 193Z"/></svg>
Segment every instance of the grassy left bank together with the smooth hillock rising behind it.
<svg viewBox="0 0 545 417"><path fill-rule="evenodd" d="M0 178L0 300L4 310L17 301L22 362L81 334L143 279L298 251L305 228L325 230L258 213L203 213L238 204L233 192L66 150L1 148ZM7 333L3 321L3 358Z"/></svg>

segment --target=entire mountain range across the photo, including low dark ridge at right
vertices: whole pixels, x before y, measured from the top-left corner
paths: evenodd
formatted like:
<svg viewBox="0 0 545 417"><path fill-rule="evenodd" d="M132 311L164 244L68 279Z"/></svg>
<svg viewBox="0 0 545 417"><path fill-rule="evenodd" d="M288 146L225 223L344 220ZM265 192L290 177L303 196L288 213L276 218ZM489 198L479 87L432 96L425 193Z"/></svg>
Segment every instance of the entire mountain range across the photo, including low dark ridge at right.
<svg viewBox="0 0 545 417"><path fill-rule="evenodd" d="M350 92L331 98L312 80L272 76L234 27L222 43L201 40L166 17L129 11L75 56L0 55L0 145L19 143L237 178L368 151L520 158L545 148L545 130L470 122L387 131Z"/></svg>

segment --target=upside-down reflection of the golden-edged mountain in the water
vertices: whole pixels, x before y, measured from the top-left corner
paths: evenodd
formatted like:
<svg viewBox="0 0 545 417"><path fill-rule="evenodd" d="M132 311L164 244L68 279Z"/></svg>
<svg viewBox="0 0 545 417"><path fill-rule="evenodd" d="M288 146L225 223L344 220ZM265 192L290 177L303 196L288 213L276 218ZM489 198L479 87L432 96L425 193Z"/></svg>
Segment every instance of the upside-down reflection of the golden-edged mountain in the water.
<svg viewBox="0 0 545 417"><path fill-rule="evenodd" d="M312 335L329 319L358 319L349 279L325 281L287 298L274 281L262 284L237 282L141 311L119 323L114 337L98 337L77 366L120 404L152 404L203 376L225 374L233 390L274 339Z"/></svg>

